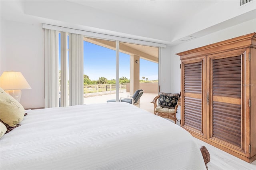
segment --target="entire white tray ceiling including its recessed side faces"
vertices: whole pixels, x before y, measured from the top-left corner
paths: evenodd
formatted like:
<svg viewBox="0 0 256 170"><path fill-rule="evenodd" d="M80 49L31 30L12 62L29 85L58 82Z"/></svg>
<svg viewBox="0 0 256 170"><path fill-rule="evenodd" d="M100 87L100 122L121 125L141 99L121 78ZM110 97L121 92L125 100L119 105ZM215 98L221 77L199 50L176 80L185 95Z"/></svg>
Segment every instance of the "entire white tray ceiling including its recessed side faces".
<svg viewBox="0 0 256 170"><path fill-rule="evenodd" d="M241 8L239 0L0 0L1 20L165 45L255 19L255 4L253 0Z"/></svg>

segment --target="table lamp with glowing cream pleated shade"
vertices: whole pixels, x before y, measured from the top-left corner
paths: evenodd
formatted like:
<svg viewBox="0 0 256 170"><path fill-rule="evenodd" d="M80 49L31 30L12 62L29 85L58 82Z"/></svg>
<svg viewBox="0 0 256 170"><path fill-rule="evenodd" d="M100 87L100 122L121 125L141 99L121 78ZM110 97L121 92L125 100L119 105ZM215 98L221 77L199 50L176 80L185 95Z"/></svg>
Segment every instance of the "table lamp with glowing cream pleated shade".
<svg viewBox="0 0 256 170"><path fill-rule="evenodd" d="M31 89L30 85L18 71L4 71L0 77L0 87L20 102L21 89Z"/></svg>

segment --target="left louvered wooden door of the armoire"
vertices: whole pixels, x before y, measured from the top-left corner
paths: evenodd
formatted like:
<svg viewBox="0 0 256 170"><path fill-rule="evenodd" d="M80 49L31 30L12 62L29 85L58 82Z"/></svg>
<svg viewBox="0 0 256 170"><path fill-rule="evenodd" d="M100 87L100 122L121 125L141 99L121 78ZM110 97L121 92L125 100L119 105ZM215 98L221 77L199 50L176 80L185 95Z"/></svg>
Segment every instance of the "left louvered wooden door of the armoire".
<svg viewBox="0 0 256 170"><path fill-rule="evenodd" d="M203 105L205 57L182 61L181 126L206 138L206 112Z"/></svg>

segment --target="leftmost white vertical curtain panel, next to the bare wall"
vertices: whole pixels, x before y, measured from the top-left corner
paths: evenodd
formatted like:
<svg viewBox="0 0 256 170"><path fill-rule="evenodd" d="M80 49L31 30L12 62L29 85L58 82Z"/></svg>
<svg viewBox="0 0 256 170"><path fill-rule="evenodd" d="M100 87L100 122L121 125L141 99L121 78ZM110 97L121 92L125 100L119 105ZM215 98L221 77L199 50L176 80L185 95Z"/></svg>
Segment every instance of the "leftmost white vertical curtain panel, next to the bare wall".
<svg viewBox="0 0 256 170"><path fill-rule="evenodd" d="M58 31L44 29L45 107L59 106Z"/></svg>

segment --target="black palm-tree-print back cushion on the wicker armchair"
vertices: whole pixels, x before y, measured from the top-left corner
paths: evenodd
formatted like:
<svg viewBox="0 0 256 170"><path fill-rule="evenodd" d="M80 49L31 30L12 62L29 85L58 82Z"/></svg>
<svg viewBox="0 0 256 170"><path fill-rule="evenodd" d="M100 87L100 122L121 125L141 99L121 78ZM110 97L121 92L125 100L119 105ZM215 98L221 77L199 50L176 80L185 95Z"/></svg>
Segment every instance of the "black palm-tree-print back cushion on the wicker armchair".
<svg viewBox="0 0 256 170"><path fill-rule="evenodd" d="M158 99L158 106L166 107L169 109L174 109L178 103L179 93L160 93L160 97Z"/></svg>

